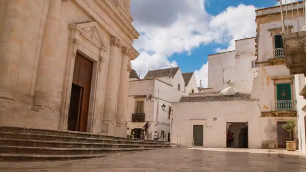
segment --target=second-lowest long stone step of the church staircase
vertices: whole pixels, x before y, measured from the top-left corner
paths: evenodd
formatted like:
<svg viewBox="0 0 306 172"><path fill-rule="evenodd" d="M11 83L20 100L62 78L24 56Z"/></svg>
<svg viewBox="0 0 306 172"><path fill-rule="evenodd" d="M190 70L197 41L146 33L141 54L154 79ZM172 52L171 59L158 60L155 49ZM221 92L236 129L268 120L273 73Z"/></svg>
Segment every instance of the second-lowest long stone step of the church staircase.
<svg viewBox="0 0 306 172"><path fill-rule="evenodd" d="M48 154L48 155L77 155L104 154L121 151L151 150L156 148L54 148L54 147L25 147L0 146L0 153L16 154Z"/></svg>

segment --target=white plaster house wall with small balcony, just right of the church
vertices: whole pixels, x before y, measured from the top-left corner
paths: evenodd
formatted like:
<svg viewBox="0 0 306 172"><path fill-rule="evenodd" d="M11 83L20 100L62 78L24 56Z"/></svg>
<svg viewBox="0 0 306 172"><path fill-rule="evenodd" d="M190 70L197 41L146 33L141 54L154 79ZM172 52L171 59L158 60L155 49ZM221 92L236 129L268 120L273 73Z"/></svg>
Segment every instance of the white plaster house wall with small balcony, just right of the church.
<svg viewBox="0 0 306 172"><path fill-rule="evenodd" d="M183 78L182 78L183 79ZM184 81L184 80L183 80ZM135 96L152 95L151 99L139 98ZM170 118L169 112L162 110L162 105L165 104L166 109L169 110L172 102L178 102L182 95L187 95L164 81L158 79L143 79L129 82L129 97L126 121L127 121L127 134L131 133L133 128L142 128L144 122L131 122L132 113L134 113L135 101L144 101L145 121L150 122L149 133L154 133L161 130L165 133L170 132ZM168 135L165 137L168 140Z"/></svg>

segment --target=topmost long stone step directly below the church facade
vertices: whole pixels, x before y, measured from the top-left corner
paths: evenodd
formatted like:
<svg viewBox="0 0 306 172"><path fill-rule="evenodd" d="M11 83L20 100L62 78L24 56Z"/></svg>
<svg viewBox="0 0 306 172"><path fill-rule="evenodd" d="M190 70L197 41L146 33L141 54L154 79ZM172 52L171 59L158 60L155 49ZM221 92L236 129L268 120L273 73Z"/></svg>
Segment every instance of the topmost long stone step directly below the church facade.
<svg viewBox="0 0 306 172"><path fill-rule="evenodd" d="M31 133L31 134L55 135L55 136L71 136L71 137L84 137L84 138L99 138L99 139L111 139L111 140L163 143L162 141L155 141L155 140L134 139L134 138L126 138L126 137L113 137L113 136L105 136L105 135L85 133L85 132L75 132L75 131L42 130L42 129L6 127L6 126L0 127L0 131L13 132L13 133Z"/></svg>

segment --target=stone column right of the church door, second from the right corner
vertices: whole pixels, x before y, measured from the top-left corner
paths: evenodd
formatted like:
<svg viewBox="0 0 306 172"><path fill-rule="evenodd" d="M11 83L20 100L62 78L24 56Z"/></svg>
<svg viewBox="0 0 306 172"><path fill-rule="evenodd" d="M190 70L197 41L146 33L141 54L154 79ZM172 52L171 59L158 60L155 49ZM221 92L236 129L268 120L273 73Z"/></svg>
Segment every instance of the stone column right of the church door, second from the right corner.
<svg viewBox="0 0 306 172"><path fill-rule="evenodd" d="M116 125L117 98L119 88L120 66L121 66L121 44L116 37L111 37L110 54L105 91L104 116L102 122L102 133L114 135Z"/></svg>

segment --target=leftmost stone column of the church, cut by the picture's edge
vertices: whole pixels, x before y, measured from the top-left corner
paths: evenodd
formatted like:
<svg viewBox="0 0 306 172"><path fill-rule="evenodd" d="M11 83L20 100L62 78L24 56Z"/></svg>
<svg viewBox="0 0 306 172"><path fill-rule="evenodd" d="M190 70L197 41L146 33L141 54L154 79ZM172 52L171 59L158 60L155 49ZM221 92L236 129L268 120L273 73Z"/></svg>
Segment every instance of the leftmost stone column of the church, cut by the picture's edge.
<svg viewBox="0 0 306 172"><path fill-rule="evenodd" d="M0 98L14 100L18 63L21 60L22 35L25 24L26 1L10 0L4 14L0 35Z"/></svg>

